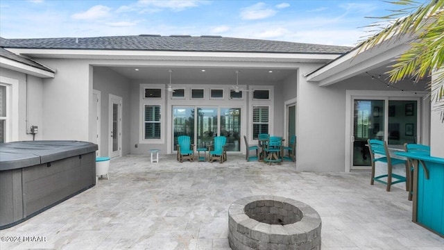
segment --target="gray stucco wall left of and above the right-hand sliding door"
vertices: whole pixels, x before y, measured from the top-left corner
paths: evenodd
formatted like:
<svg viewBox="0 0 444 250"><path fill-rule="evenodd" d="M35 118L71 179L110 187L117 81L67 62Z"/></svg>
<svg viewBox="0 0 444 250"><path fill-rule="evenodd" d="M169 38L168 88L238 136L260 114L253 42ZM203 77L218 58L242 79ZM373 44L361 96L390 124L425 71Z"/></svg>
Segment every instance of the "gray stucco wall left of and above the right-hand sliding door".
<svg viewBox="0 0 444 250"><path fill-rule="evenodd" d="M302 69L302 72L309 69ZM397 83L404 91L424 91L424 83ZM307 172L343 172L345 170L346 90L380 90L390 96L401 92L387 88L371 76L357 76L341 83L318 87L301 78L298 83L297 169ZM418 96L419 97L419 96Z"/></svg>

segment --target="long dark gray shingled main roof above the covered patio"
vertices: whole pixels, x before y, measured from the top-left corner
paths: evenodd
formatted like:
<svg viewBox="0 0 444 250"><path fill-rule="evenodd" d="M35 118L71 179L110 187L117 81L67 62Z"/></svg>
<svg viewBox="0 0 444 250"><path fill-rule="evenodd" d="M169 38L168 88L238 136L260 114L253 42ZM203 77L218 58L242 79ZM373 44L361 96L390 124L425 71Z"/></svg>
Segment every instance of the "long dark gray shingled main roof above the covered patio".
<svg viewBox="0 0 444 250"><path fill-rule="evenodd" d="M3 39L0 47L22 49L105 49L145 51L208 51L343 54L351 47L280 42L220 36L128 35L97 38Z"/></svg>

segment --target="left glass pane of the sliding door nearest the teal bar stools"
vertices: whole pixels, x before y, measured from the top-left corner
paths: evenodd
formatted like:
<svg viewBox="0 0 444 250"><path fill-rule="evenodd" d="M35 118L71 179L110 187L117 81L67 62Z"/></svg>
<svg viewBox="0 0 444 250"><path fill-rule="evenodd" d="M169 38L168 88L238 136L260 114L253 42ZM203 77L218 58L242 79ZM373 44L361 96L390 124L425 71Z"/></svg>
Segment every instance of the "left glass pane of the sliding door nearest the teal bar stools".
<svg viewBox="0 0 444 250"><path fill-rule="evenodd" d="M370 166L368 139L384 140L384 100L354 102L353 166Z"/></svg>

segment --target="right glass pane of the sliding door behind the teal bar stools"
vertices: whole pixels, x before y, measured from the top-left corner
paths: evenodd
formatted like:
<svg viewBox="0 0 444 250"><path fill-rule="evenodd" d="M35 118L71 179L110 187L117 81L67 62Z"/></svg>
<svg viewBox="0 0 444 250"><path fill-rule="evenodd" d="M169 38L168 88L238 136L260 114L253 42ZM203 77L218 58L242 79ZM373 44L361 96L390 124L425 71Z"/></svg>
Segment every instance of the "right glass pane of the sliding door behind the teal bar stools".
<svg viewBox="0 0 444 250"><path fill-rule="evenodd" d="M416 101L388 101L388 140L390 144L416 143Z"/></svg>

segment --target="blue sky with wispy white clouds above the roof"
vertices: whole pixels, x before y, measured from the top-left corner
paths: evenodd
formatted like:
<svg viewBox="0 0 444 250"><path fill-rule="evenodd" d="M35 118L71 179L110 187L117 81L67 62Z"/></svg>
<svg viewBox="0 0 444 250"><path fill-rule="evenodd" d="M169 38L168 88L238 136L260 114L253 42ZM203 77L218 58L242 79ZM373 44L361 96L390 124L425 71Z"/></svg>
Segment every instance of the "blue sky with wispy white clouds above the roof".
<svg viewBox="0 0 444 250"><path fill-rule="evenodd" d="M398 8L379 0L0 0L2 38L221 35L354 46Z"/></svg>

